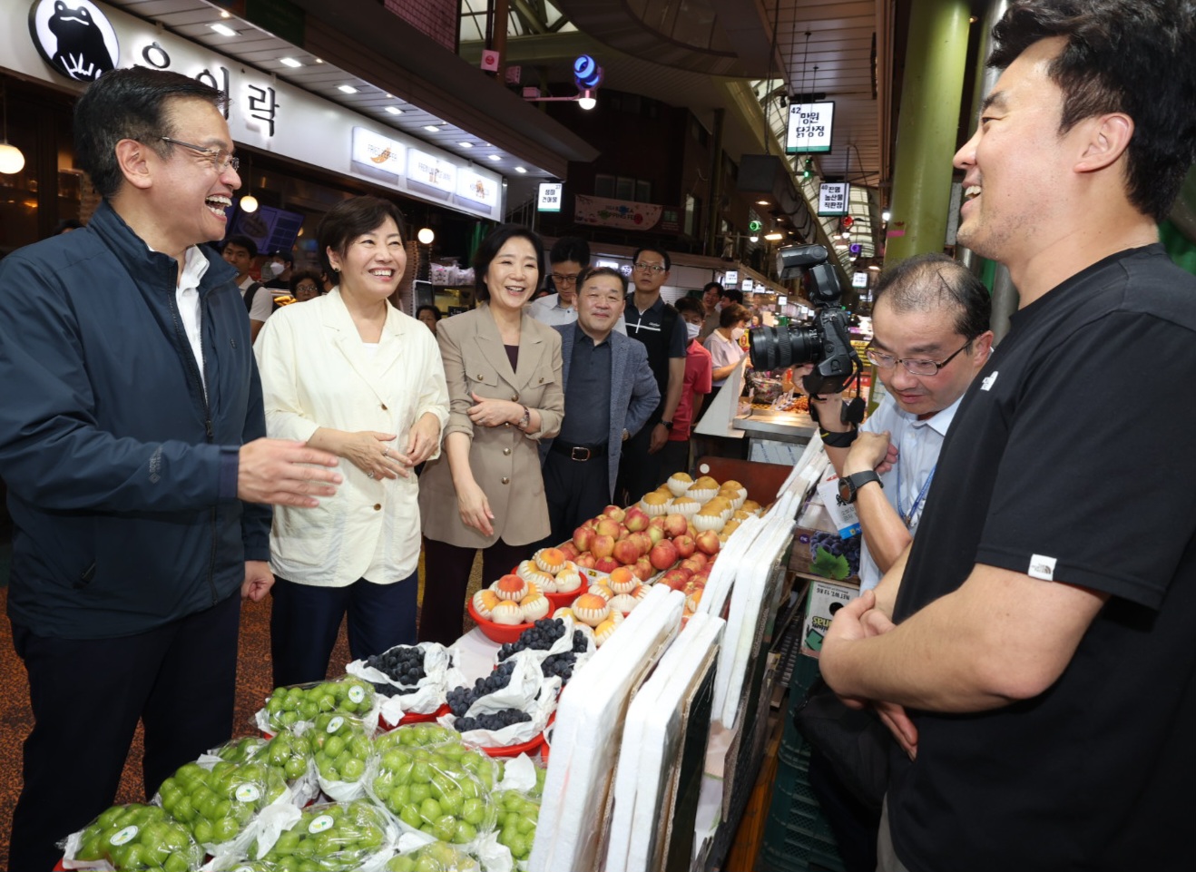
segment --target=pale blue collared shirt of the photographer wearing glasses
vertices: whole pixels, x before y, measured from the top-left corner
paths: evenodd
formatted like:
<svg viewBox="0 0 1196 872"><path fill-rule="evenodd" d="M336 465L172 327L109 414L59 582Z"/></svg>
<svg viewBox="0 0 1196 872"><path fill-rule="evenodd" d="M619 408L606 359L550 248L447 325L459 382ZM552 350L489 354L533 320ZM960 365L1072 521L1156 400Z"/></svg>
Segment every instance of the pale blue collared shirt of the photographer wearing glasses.
<svg viewBox="0 0 1196 872"><path fill-rule="evenodd" d="M880 476L880 482L884 484L885 499L898 514L901 514L902 508L909 511L914 506L926 486L926 480L930 477L930 472L938 465L942 440L947 435L947 429L951 427L951 421L954 420L956 410L962 400L963 395L933 417L919 421L917 415L905 411L892 396L886 395L872 416L860 426L860 429L869 433L889 431L890 441L897 446L897 463L901 464L899 475L895 465ZM901 493L898 493L898 477L901 478ZM898 502L901 507L898 507ZM916 533L917 522L921 520L925 510L926 499L923 498L917 502L910 520L910 536ZM861 539L860 590L866 591L875 587L883 574L868 553L867 542Z"/></svg>

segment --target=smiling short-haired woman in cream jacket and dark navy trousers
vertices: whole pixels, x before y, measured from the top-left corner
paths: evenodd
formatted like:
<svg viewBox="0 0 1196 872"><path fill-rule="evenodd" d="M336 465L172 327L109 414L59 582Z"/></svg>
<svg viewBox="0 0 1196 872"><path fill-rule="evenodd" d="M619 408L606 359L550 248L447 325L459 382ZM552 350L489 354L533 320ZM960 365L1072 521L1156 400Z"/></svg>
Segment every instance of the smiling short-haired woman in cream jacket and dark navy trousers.
<svg viewBox="0 0 1196 872"><path fill-rule="evenodd" d="M274 683L319 681L348 615L354 659L414 644L419 481L438 453L448 392L435 339L388 301L407 256L398 209L354 197L321 221L340 281L274 313L255 346L269 435L342 458L344 483L317 508L274 512Z"/></svg>

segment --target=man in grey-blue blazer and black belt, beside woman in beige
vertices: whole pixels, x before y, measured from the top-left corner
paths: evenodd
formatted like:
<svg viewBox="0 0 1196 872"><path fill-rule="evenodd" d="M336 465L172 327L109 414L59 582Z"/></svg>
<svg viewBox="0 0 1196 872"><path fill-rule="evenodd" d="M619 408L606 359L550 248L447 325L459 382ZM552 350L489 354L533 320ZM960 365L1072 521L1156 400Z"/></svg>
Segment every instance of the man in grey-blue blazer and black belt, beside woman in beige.
<svg viewBox="0 0 1196 872"><path fill-rule="evenodd" d="M643 343L615 331L626 295L627 280L618 270L592 269L578 289L576 323L555 328L561 334L565 421L541 447L553 544L573 536L614 499L623 441L660 402Z"/></svg>

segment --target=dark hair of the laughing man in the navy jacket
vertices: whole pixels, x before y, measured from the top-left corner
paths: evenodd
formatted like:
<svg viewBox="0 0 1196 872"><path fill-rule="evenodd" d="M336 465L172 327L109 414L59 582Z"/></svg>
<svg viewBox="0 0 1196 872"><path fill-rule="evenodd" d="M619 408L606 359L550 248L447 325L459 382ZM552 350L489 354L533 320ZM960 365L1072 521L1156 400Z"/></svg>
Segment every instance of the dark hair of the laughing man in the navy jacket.
<svg viewBox="0 0 1196 872"><path fill-rule="evenodd" d="M207 100L216 109L225 96L196 79L165 69L130 67L104 73L87 86L74 109L75 161L105 200L121 189L124 175L116 160L116 144L135 139L165 158L173 147L171 99Z"/></svg>

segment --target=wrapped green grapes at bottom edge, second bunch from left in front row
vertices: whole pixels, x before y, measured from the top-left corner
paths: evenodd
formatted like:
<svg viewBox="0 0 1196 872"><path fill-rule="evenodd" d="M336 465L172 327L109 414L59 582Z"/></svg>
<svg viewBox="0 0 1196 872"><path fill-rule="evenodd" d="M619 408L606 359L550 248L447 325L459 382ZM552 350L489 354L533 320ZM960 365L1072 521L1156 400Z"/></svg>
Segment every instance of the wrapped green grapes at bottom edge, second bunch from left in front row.
<svg viewBox="0 0 1196 872"><path fill-rule="evenodd" d="M372 803L311 805L258 864L277 872L348 872L386 847L386 816ZM249 855L257 856L256 844Z"/></svg>

